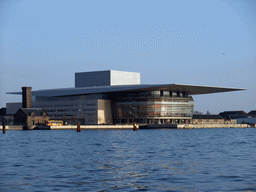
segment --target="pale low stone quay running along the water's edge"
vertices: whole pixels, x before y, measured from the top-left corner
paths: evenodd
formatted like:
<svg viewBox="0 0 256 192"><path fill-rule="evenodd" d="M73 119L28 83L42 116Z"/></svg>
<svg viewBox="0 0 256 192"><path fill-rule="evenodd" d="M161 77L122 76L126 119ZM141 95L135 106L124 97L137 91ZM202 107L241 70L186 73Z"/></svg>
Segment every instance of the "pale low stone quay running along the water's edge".
<svg viewBox="0 0 256 192"><path fill-rule="evenodd" d="M80 125L81 129L133 129L133 125ZM204 128L256 128L256 125L248 124L177 124L173 126L147 126L139 125L138 129L204 129ZM0 125L0 130L3 129L3 126ZM61 125L61 126L45 126L38 125L33 126L29 129L24 129L20 125L7 125L6 130L69 130L77 129L77 125Z"/></svg>

